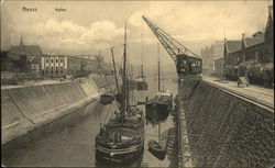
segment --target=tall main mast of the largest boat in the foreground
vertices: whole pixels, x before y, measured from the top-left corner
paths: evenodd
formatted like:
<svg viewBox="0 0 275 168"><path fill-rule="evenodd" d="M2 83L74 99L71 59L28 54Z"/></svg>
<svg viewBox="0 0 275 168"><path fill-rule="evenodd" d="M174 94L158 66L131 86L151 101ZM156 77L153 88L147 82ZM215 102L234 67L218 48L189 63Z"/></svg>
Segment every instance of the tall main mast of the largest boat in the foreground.
<svg viewBox="0 0 275 168"><path fill-rule="evenodd" d="M122 105L121 105L121 122L124 123L124 111L127 105L127 23L124 30L124 52L123 52L123 74L122 74Z"/></svg>

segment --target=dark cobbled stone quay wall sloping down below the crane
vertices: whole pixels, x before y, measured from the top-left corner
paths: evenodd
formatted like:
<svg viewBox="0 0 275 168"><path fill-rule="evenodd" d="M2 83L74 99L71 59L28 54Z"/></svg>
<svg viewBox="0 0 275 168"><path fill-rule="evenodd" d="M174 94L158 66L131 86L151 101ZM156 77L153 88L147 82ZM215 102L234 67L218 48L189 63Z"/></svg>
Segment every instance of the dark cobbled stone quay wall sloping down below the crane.
<svg viewBox="0 0 275 168"><path fill-rule="evenodd" d="M179 81L178 90L194 167L274 166L274 111L204 80Z"/></svg>

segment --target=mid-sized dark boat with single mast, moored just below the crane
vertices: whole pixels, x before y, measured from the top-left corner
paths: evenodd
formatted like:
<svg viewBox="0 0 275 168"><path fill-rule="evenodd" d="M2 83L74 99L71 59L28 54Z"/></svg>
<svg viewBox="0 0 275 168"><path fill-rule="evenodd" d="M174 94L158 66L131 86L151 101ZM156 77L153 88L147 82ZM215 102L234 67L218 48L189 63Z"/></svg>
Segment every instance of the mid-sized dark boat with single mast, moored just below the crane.
<svg viewBox="0 0 275 168"><path fill-rule="evenodd" d="M155 124L163 122L169 115L169 111L173 108L173 94L167 90L161 90L161 71L160 71L160 46L157 45L157 71L158 71L158 92L154 98L145 102L145 116L146 120Z"/></svg>

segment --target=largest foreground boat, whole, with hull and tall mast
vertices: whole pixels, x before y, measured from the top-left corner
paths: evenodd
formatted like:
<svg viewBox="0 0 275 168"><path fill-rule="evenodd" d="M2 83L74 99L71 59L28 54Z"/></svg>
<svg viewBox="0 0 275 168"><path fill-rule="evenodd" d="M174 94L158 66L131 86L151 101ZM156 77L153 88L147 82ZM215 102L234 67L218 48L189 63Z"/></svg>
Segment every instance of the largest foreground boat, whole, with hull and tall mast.
<svg viewBox="0 0 275 168"><path fill-rule="evenodd" d="M130 105L129 76L127 75L127 25L124 34L122 90L119 111L96 136L96 159L98 163L132 163L143 154L144 116L136 105Z"/></svg>

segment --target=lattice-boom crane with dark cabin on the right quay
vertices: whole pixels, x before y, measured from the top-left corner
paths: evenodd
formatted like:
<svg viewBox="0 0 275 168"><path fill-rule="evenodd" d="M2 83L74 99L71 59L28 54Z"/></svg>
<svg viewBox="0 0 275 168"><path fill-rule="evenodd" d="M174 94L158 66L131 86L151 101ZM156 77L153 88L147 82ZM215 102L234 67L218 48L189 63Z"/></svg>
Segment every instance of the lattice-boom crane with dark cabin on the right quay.
<svg viewBox="0 0 275 168"><path fill-rule="evenodd" d="M145 16L142 16L142 19L175 61L178 74L184 74L185 76L201 74L202 59L198 55L173 38Z"/></svg>

